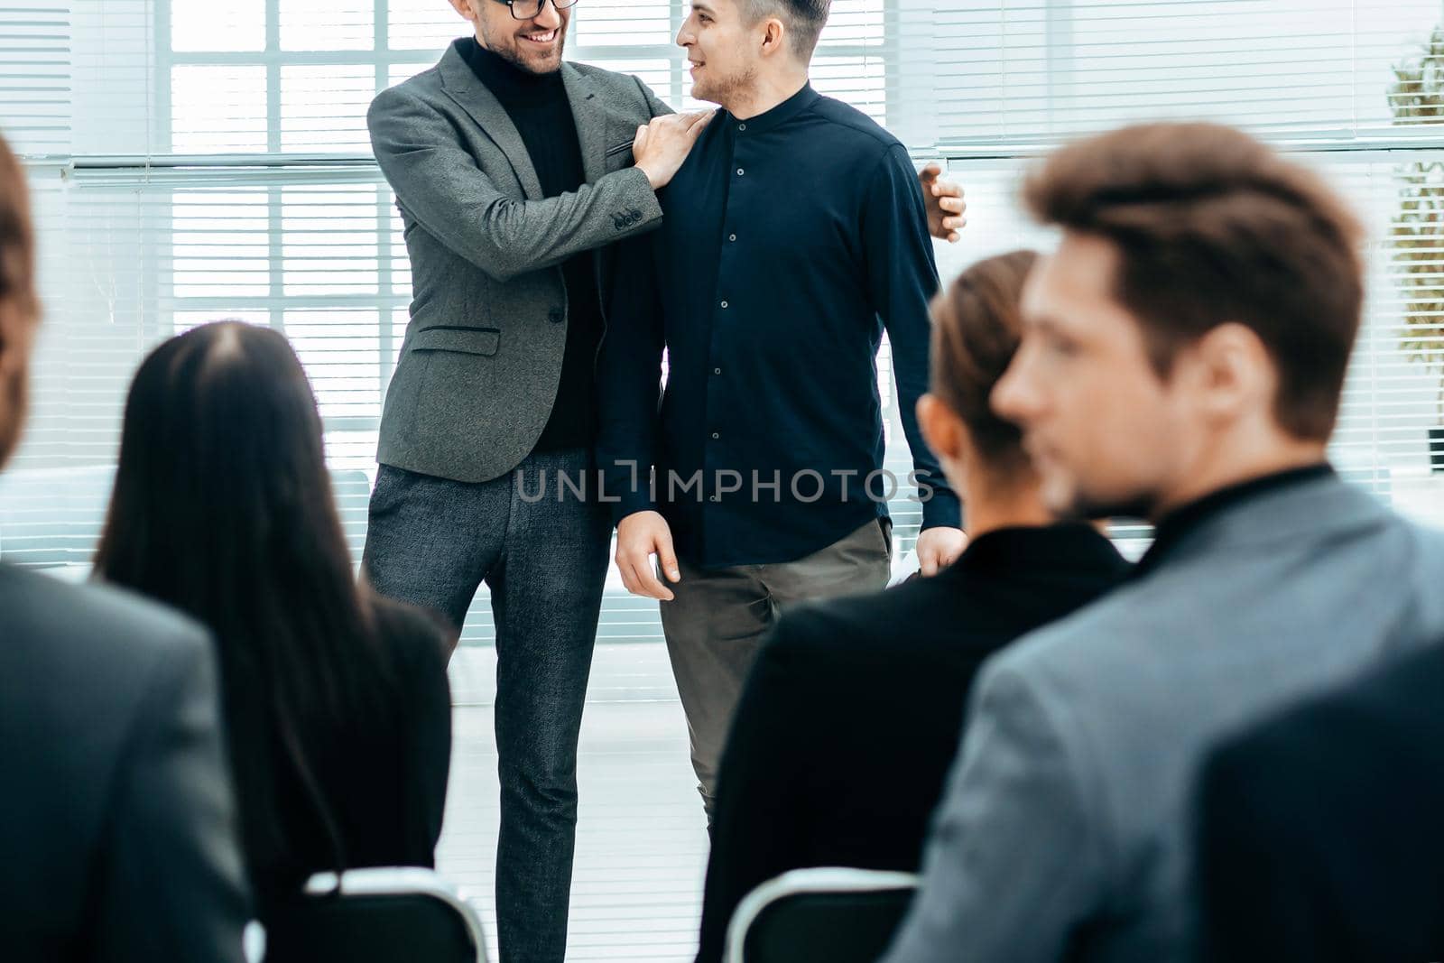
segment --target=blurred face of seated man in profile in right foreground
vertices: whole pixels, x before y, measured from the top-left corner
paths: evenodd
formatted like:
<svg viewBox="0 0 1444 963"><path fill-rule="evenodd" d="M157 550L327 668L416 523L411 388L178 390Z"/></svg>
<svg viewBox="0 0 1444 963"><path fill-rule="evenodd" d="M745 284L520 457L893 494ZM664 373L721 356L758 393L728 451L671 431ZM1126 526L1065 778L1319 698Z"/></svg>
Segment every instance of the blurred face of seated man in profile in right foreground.
<svg viewBox="0 0 1444 963"><path fill-rule="evenodd" d="M1022 344L992 393L1061 515L1151 517L1203 445L1187 352L1168 378L1158 374L1138 319L1113 296L1116 270L1112 243L1067 234L1028 277Z"/></svg>

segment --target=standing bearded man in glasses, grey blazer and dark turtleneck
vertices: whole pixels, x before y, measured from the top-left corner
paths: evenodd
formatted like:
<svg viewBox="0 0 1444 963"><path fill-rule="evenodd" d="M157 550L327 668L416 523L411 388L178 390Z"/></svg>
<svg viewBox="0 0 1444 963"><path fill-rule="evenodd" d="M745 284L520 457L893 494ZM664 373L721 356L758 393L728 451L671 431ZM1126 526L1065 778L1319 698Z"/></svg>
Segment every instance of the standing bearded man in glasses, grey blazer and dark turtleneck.
<svg viewBox="0 0 1444 963"><path fill-rule="evenodd" d="M575 0L452 0L474 26L367 123L414 300L387 391L364 567L459 632L497 625L497 928L505 963L566 947L576 741L611 543L595 360L614 241L654 228L706 123L637 78L562 61ZM931 227L960 227L928 179ZM944 211L944 208L949 208Z"/></svg>

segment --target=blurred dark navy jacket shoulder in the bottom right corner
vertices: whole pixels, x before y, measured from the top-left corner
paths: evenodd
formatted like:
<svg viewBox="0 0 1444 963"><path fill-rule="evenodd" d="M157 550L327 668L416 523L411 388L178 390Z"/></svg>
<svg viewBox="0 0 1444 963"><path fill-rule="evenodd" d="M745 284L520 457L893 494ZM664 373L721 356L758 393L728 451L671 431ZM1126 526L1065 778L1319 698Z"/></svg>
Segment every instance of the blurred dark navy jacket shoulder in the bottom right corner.
<svg viewBox="0 0 1444 963"><path fill-rule="evenodd" d="M1222 746L1199 811L1200 959L1444 960L1444 645Z"/></svg>

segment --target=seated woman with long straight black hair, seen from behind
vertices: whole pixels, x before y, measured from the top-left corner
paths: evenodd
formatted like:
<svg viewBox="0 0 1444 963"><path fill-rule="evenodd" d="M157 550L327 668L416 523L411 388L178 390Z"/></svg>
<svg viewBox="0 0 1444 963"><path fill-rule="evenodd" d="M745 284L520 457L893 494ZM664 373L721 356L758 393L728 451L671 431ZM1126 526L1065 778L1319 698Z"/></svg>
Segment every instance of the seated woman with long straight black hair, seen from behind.
<svg viewBox="0 0 1444 963"><path fill-rule="evenodd" d="M263 921L312 872L433 865L451 761L442 629L357 585L284 336L218 322L144 360L95 570L215 635Z"/></svg>

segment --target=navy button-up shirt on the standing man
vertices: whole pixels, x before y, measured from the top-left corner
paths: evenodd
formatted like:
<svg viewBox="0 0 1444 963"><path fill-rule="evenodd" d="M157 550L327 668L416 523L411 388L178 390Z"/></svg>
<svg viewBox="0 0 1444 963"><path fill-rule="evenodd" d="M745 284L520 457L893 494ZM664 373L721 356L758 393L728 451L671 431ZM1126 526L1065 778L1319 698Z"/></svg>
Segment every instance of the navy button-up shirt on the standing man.
<svg viewBox="0 0 1444 963"><path fill-rule="evenodd" d="M914 416L937 267L902 144L804 87L747 120L718 111L661 205L618 251L599 357L617 518L656 508L683 557L719 567L800 559L885 515L910 482L881 472L885 328L923 524L957 526Z"/></svg>

